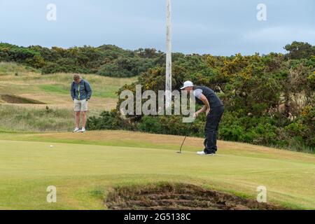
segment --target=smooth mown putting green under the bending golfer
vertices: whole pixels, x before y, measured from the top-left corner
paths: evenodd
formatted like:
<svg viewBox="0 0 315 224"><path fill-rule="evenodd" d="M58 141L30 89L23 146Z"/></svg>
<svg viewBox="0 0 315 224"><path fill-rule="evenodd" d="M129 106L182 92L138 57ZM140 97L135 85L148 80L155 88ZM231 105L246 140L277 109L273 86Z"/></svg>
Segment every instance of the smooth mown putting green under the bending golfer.
<svg viewBox="0 0 315 224"><path fill-rule="evenodd" d="M217 157L200 157L202 139L134 132L0 134L0 209L106 209L115 186L172 181L315 209L315 156L219 142ZM50 148L50 145L53 145ZM57 203L45 190L57 187Z"/></svg>

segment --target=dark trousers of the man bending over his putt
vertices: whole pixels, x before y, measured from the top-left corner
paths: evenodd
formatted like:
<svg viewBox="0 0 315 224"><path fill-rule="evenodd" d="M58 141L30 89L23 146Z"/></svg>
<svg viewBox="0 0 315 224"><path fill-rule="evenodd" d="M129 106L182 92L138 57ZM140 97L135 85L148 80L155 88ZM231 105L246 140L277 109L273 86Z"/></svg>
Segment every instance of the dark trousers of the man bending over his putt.
<svg viewBox="0 0 315 224"><path fill-rule="evenodd" d="M204 128L204 153L216 153L218 146L216 146L216 139L218 137L218 125L224 113L224 106L211 109L207 116L206 127Z"/></svg>

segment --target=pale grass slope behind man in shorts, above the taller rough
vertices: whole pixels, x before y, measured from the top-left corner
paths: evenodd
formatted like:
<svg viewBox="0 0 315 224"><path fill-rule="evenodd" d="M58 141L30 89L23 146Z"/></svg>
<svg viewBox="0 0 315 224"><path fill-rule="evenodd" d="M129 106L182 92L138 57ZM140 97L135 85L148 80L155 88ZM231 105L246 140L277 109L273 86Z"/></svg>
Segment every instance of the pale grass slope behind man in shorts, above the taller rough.
<svg viewBox="0 0 315 224"><path fill-rule="evenodd" d="M18 76L15 73L18 72ZM70 97L72 73L55 73L42 76L39 71L15 63L0 63L0 95L14 94L18 97L34 99L48 104L52 109L72 109ZM90 112L97 115L101 111L115 109L118 97L115 92L137 78L109 78L93 74L82 74L92 85L94 96L90 100ZM51 88L50 88L51 87ZM1 104L5 104L0 100ZM33 104L12 104L25 108L43 109L45 106Z"/></svg>

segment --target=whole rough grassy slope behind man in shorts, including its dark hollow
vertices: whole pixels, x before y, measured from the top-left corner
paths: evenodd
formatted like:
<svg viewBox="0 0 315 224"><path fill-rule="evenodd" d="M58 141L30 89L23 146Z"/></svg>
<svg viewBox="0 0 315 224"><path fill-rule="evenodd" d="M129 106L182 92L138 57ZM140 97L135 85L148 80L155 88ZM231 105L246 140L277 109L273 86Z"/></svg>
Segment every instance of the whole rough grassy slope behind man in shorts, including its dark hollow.
<svg viewBox="0 0 315 224"><path fill-rule="evenodd" d="M91 83L94 91L89 102L91 116L114 109L118 100L118 89L136 80L94 74L82 76ZM38 70L27 66L0 62L0 130L71 130L71 82L71 73L41 75Z"/></svg>

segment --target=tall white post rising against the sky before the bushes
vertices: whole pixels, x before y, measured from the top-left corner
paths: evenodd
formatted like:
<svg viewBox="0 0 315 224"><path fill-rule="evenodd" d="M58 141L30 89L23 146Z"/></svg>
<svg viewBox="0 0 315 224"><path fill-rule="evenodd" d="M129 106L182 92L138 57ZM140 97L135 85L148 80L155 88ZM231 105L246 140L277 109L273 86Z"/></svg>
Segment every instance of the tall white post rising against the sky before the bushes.
<svg viewBox="0 0 315 224"><path fill-rule="evenodd" d="M165 101L167 114L172 113L172 22L171 0L167 0L167 59L165 79Z"/></svg>

